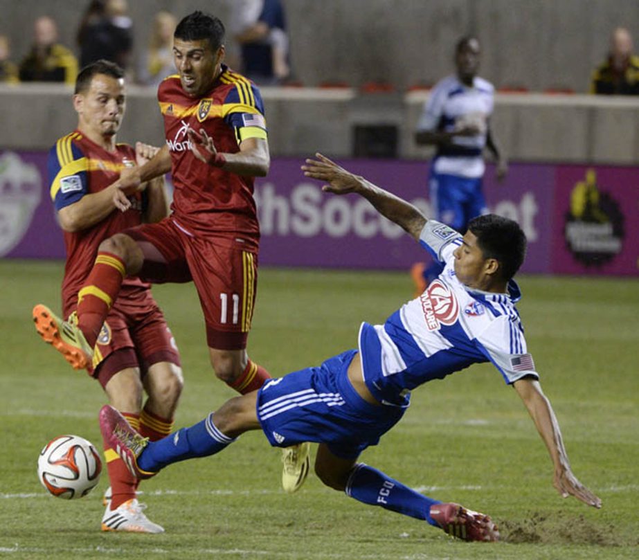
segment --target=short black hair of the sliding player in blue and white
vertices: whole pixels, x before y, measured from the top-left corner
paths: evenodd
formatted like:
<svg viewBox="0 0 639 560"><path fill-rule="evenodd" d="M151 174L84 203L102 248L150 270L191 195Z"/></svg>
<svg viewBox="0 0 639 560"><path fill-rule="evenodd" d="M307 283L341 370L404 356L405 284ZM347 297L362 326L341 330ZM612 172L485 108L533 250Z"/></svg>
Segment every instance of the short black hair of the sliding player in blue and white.
<svg viewBox="0 0 639 560"><path fill-rule="evenodd" d="M484 258L499 262L501 278L510 280L526 255L526 236L514 220L487 214L471 219L468 229L477 237Z"/></svg>

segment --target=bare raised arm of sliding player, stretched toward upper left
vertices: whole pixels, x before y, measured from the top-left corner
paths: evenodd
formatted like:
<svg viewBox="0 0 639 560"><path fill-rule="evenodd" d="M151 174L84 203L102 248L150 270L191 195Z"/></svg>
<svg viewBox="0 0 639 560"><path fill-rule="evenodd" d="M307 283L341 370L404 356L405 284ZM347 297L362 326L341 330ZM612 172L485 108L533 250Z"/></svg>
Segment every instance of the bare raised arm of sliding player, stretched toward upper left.
<svg viewBox="0 0 639 560"><path fill-rule="evenodd" d="M404 199L396 197L383 188L373 185L359 175L341 168L322 154L315 154L317 159L307 159L302 170L306 177L324 181L322 190L336 195L347 195L356 192L375 207L382 216L404 228L406 233L420 239L420 233L426 224L426 217L415 206Z"/></svg>

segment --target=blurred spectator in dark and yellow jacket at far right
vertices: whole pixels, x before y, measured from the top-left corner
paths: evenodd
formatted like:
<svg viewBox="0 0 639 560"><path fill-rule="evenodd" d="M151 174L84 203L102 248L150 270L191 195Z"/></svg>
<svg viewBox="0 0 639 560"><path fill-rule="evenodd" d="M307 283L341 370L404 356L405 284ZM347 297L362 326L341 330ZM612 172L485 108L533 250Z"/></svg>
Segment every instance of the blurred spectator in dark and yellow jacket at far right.
<svg viewBox="0 0 639 560"><path fill-rule="evenodd" d="M608 59L593 72L591 93L639 95L639 57L633 55L632 36L627 29L613 31Z"/></svg>

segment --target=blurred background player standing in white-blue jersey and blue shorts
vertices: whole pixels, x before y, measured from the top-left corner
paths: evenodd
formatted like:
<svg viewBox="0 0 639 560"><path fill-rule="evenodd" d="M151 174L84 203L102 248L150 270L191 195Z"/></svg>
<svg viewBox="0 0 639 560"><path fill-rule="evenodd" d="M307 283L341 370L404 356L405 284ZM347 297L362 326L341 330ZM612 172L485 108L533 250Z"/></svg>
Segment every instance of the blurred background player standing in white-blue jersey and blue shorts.
<svg viewBox="0 0 639 560"><path fill-rule="evenodd" d="M465 233L471 218L487 213L482 192L485 147L496 160L498 179L507 161L490 127L493 85L477 75L480 45L476 37L462 37L455 48L456 74L440 80L424 105L415 142L437 148L429 172L429 193L439 222ZM438 262L413 267L421 293L442 271Z"/></svg>

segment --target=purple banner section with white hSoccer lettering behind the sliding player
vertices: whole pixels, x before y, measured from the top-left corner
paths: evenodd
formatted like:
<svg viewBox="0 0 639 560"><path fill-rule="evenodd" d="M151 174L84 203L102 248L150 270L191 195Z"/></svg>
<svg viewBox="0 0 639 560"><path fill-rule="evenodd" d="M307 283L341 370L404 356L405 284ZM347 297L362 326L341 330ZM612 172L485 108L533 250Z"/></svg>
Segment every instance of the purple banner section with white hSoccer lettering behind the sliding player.
<svg viewBox="0 0 639 560"><path fill-rule="evenodd" d="M408 269L429 256L399 226L357 195L321 191L300 171L302 160L278 159L255 188L262 228L260 263L282 266ZM348 170L411 201L433 217L423 162L341 160ZM550 272L550 222L554 168L513 165L498 183L487 172L485 192L492 211L515 219L529 239L524 271Z"/></svg>

